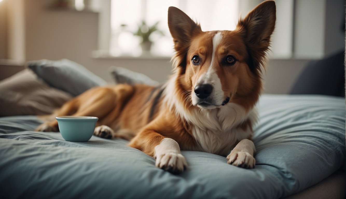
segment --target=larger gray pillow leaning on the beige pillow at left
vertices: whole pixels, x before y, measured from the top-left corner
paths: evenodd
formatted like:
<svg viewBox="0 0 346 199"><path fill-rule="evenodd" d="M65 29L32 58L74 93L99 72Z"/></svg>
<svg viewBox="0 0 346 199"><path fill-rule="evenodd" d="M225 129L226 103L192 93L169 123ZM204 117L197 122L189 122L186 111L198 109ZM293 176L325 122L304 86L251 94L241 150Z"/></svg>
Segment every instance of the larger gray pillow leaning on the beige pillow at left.
<svg viewBox="0 0 346 199"><path fill-rule="evenodd" d="M47 84L77 96L94 86L107 85L101 77L68 59L29 61L27 67Z"/></svg>

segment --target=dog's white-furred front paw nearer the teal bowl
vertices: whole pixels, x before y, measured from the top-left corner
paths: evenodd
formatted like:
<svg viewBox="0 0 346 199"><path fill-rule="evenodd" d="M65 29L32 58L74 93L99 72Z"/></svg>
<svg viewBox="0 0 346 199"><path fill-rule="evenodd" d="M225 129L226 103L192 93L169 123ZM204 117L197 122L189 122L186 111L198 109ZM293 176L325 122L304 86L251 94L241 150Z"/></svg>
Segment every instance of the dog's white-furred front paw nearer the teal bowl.
<svg viewBox="0 0 346 199"><path fill-rule="evenodd" d="M177 174L183 172L188 164L185 157L176 152L160 154L156 157L156 167Z"/></svg>

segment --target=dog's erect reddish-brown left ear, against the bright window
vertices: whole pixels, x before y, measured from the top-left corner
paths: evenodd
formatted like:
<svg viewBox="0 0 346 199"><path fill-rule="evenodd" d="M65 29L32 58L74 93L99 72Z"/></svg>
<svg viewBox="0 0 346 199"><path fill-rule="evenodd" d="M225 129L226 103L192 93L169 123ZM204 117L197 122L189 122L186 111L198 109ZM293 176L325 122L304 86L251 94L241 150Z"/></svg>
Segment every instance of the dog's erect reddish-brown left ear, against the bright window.
<svg viewBox="0 0 346 199"><path fill-rule="evenodd" d="M168 27L173 37L177 57L185 56L191 37L202 32L201 27L197 23L175 7L168 8Z"/></svg>

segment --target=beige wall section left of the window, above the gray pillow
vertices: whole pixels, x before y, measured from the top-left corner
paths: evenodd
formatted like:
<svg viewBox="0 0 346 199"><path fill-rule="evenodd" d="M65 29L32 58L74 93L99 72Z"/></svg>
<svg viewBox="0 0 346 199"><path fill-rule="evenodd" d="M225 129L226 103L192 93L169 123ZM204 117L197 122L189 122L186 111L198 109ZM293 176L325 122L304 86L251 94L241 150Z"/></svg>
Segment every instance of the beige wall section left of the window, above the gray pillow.
<svg viewBox="0 0 346 199"><path fill-rule="evenodd" d="M25 29L27 60L67 58L93 67L90 55L97 49L98 13L51 9L44 0L27 0Z"/></svg>

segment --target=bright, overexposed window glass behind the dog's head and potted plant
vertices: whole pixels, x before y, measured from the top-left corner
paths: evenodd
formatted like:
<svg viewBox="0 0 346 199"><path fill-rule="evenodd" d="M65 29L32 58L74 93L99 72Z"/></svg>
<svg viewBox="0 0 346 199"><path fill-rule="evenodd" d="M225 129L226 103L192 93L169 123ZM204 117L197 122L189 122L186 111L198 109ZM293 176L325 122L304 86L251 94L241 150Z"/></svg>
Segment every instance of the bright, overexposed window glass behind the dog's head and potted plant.
<svg viewBox="0 0 346 199"><path fill-rule="evenodd" d="M141 39L133 35L144 20L149 26L157 21L164 36L152 34L151 54L172 56L173 39L167 25L168 7L184 11L201 24L203 31L234 30L238 22L238 0L111 0L111 56L140 56ZM121 26L121 25L126 25Z"/></svg>

